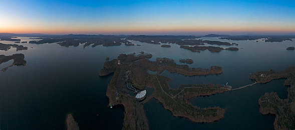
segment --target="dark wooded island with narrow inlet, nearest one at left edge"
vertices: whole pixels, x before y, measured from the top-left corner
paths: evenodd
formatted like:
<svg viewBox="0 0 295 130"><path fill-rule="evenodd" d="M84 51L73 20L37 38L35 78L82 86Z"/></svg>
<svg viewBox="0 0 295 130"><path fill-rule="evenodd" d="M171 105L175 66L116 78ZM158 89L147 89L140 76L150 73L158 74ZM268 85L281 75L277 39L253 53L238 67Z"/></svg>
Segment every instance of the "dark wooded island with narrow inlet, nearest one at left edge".
<svg viewBox="0 0 295 130"><path fill-rule="evenodd" d="M14 65L20 66L20 65L26 65L26 63L27 63L27 61L25 60L25 55L22 53L17 53L17 54L13 54L13 55L9 55L9 56L3 55L3 54L0 55L0 64L3 62L7 62L11 59L13 59L14 62L5 68L2 68L0 71L5 71L9 67L14 66Z"/></svg>

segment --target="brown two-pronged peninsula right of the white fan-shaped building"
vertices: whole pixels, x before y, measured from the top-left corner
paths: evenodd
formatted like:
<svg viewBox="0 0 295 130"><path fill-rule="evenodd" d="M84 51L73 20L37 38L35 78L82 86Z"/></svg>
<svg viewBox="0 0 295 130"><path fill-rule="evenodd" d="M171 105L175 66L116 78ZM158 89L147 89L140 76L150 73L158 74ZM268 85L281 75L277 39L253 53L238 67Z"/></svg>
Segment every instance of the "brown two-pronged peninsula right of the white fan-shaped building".
<svg viewBox="0 0 295 130"><path fill-rule="evenodd" d="M195 96L211 95L229 90L221 85L189 84L171 89L165 76L151 77L154 83L154 97L163 103L174 116L187 117L194 122L213 122L223 117L225 110L220 107L200 108L193 106L188 100Z"/></svg>

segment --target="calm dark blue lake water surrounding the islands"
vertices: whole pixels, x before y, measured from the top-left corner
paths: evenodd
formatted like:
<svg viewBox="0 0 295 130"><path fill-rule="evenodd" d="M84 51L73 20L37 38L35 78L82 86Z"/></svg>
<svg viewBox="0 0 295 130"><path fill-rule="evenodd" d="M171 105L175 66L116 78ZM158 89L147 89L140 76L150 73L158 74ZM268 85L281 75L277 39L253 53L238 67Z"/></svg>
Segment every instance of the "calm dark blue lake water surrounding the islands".
<svg viewBox="0 0 295 130"><path fill-rule="evenodd" d="M20 37L22 41L32 40ZM263 42L259 40L232 41L216 37L202 37L208 40L235 42L238 51L208 50L191 52L171 44L170 48L159 44L132 41L141 46L87 46L64 47L55 43L30 44L28 50L0 51L11 55L24 53L26 66L13 66L0 72L1 129L66 129L66 115L72 113L80 129L121 129L124 109L109 108L106 96L107 84L113 75L101 77L105 57L116 58L120 53L145 51L156 57L174 59L191 58L191 67L208 68L211 65L223 67L217 75L184 76L164 71L161 75L172 79L170 85L177 88L183 83L228 82L233 88L250 84L250 72L269 69L284 69L295 65L295 51L286 50L295 46L293 41ZM12 41L0 41L14 43ZM33 47L33 48L32 48ZM226 46L223 46L226 47ZM1 67L9 63L1 64ZM180 63L181 64L181 63ZM258 99L265 92L275 91L281 98L287 96L284 79L265 84L255 84L244 89L227 91L206 97L190 99L199 107L219 106L225 108L225 115L213 123L194 123L189 119L175 117L164 109L156 99L144 105L151 129L273 129L274 115L259 112ZM152 89L150 90L152 91ZM149 92L149 91L147 91Z"/></svg>

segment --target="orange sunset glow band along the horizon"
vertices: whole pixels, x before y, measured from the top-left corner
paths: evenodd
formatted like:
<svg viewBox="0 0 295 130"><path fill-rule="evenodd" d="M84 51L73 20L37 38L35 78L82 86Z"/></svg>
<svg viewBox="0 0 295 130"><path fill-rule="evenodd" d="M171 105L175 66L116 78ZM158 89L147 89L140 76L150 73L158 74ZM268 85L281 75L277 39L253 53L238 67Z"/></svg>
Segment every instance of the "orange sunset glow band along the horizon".
<svg viewBox="0 0 295 130"><path fill-rule="evenodd" d="M277 26L277 27L268 27L268 26L209 26L209 25L186 25L186 26L128 26L128 27L118 27L118 26L105 26L105 27L89 27L89 26L56 26L56 27L44 27L44 26L28 26L28 27L1 27L0 32L9 32L9 33L47 33L47 34L68 34L68 33L169 33L169 32L277 32L277 33L290 33L295 32L295 27L288 26Z"/></svg>

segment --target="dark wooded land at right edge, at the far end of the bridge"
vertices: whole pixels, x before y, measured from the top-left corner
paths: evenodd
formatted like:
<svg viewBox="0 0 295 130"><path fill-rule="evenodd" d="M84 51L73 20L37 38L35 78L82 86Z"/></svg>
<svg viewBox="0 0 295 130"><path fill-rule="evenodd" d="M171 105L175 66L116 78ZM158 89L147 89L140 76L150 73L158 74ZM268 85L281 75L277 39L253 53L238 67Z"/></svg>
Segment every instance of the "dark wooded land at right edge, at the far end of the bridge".
<svg viewBox="0 0 295 130"><path fill-rule="evenodd" d="M295 66L287 67L283 71L259 71L249 75L256 82L266 83L273 79L286 78L287 98L281 99L276 92L266 92L259 100L259 111L262 114L275 114L274 129L295 129Z"/></svg>

